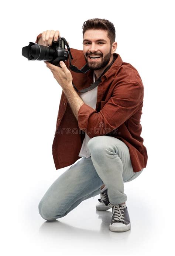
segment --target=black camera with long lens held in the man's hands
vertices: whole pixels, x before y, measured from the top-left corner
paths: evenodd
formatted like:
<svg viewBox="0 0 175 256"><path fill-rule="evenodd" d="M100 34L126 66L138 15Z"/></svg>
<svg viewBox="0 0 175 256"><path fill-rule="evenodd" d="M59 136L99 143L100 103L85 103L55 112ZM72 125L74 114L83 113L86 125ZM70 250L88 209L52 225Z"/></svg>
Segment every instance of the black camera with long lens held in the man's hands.
<svg viewBox="0 0 175 256"><path fill-rule="evenodd" d="M55 66L59 66L59 62L69 59L69 52L65 49L68 45L64 37L52 42L52 46L38 45L30 42L28 46L22 48L22 55L28 60L48 61Z"/></svg>

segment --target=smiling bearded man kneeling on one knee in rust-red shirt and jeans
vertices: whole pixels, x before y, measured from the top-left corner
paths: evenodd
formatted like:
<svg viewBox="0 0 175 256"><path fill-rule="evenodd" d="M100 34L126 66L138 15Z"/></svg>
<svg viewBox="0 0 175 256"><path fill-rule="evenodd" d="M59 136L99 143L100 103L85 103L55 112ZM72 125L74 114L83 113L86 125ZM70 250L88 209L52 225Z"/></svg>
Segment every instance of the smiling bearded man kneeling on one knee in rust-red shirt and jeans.
<svg viewBox="0 0 175 256"><path fill-rule="evenodd" d="M56 170L71 167L49 187L39 213L54 221L100 194L96 209L112 208L109 229L123 232L131 228L124 182L137 178L147 165L140 124L144 87L137 70L115 53L113 23L91 19L82 28L83 50L71 48L72 64L87 65L88 72L73 72L69 61L60 62L61 68L45 62L62 87L54 163ZM58 30L47 30L36 42L51 46L58 37Z"/></svg>

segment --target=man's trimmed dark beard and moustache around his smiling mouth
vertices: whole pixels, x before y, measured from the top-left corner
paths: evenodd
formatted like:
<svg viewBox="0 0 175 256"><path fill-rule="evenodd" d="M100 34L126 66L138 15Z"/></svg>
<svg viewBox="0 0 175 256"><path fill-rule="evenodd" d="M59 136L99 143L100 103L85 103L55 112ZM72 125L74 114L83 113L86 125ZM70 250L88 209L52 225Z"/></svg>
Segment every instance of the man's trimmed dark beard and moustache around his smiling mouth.
<svg viewBox="0 0 175 256"><path fill-rule="evenodd" d="M93 54L90 54L90 55L93 55ZM94 55L98 55L98 54L94 54ZM107 53L104 57L101 56L100 61L94 61L94 62L92 61L89 63L88 58L89 58L89 55L85 57L85 60L86 60L86 63L88 64L89 69L92 69L92 70L102 69L102 68L106 67L110 61L111 47L110 47L109 53Z"/></svg>

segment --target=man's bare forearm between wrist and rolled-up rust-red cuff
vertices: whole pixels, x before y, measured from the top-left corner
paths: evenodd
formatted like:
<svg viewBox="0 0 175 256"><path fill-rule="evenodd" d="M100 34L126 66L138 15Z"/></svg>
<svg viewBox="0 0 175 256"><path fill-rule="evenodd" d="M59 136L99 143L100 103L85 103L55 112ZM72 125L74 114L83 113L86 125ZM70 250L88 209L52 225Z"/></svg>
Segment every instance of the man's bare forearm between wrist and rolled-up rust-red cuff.
<svg viewBox="0 0 175 256"><path fill-rule="evenodd" d="M80 106L82 106L84 102L79 97L78 93L75 91L72 84L70 86L66 86L66 88L63 89L63 92L66 98L68 99L68 102L69 102L69 105L71 106L73 114L78 120L78 111L80 109Z"/></svg>

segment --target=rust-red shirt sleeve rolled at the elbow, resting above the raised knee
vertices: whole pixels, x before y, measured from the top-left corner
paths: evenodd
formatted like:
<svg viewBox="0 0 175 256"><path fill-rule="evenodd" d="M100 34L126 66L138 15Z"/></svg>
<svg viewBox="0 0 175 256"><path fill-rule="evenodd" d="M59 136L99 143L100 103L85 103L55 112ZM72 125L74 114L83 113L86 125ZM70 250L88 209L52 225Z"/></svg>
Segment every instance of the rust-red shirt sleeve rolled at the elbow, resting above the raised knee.
<svg viewBox="0 0 175 256"><path fill-rule="evenodd" d="M135 112L143 102L143 85L138 82L122 82L114 88L104 107L97 112L87 104L78 111L78 126L90 138L106 135L118 128Z"/></svg>

